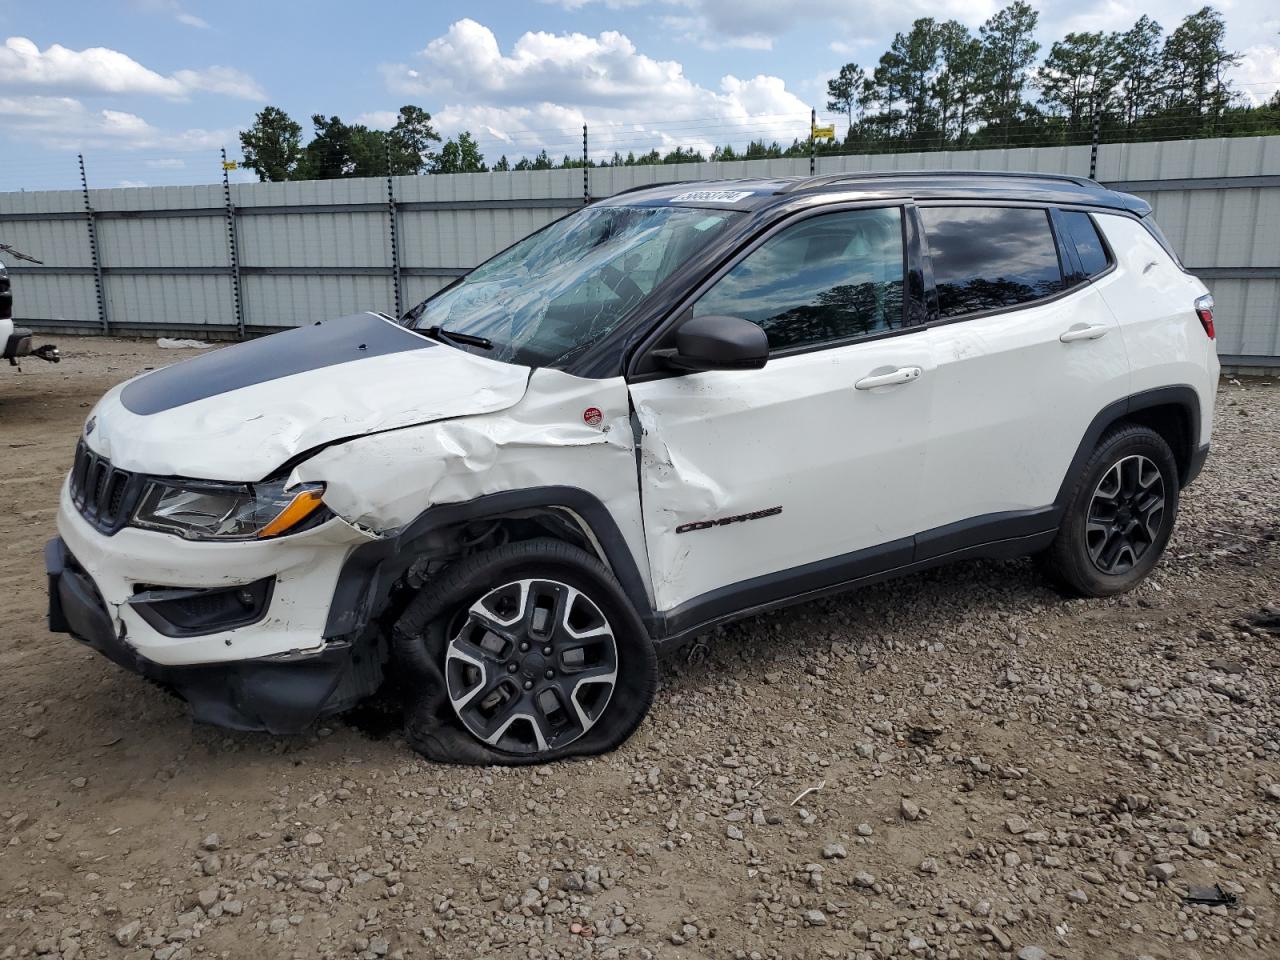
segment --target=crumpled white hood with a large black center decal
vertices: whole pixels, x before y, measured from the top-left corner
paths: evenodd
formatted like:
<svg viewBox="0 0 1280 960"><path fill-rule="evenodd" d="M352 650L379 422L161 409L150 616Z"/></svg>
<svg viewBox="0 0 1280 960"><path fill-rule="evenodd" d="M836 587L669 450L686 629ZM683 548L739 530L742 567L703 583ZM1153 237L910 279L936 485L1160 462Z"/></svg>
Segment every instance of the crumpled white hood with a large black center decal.
<svg viewBox="0 0 1280 960"><path fill-rule="evenodd" d="M99 402L84 438L122 470L262 480L335 442L504 410L524 397L529 374L357 314L120 384Z"/></svg>

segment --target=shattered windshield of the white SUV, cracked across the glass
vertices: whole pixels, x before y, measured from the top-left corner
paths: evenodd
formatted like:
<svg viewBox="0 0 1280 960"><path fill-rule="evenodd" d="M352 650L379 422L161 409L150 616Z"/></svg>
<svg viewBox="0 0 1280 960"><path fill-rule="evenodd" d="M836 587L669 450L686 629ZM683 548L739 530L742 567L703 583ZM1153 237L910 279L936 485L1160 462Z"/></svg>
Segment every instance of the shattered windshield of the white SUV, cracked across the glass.
<svg viewBox="0 0 1280 960"><path fill-rule="evenodd" d="M567 362L740 216L680 206L582 210L426 301L412 326L483 337L495 360Z"/></svg>

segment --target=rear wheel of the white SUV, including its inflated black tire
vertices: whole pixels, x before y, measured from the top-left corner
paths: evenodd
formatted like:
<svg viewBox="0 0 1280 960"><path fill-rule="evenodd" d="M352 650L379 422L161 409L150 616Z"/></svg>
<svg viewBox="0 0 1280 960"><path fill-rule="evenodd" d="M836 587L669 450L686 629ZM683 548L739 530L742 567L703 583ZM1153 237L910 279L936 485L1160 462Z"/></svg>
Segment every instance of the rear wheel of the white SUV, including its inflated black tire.
<svg viewBox="0 0 1280 960"><path fill-rule="evenodd" d="M1165 438L1138 424L1112 428L1080 471L1057 538L1037 558L1041 570L1075 596L1132 590L1169 544L1178 495Z"/></svg>

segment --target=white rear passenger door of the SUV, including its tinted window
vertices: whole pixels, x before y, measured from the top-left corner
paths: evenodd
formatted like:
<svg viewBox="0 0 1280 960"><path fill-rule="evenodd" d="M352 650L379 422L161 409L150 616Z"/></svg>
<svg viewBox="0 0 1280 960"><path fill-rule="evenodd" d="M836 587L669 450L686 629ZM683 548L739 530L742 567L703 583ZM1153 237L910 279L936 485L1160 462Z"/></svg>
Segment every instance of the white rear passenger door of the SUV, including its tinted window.
<svg viewBox="0 0 1280 960"><path fill-rule="evenodd" d="M1129 393L1124 340L1094 275L1111 269L1084 212L938 204L920 219L940 321L916 558L1052 529L1093 417ZM1098 256L1101 255L1101 265Z"/></svg>

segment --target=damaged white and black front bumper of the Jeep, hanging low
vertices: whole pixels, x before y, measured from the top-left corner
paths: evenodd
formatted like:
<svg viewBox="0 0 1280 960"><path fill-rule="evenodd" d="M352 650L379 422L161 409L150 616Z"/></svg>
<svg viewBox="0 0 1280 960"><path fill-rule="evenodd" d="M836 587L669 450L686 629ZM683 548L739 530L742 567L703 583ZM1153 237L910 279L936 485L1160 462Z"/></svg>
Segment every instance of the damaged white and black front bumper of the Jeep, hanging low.
<svg viewBox="0 0 1280 960"><path fill-rule="evenodd" d="M340 520L250 543L193 543L132 527L106 535L79 516L64 484L58 530L45 550L50 630L172 687L198 721L294 733L381 682L378 646L325 637L338 571L374 539ZM205 600L243 588L262 609L174 628L138 602L168 595L166 588Z"/></svg>

